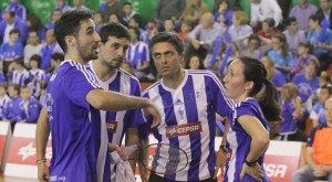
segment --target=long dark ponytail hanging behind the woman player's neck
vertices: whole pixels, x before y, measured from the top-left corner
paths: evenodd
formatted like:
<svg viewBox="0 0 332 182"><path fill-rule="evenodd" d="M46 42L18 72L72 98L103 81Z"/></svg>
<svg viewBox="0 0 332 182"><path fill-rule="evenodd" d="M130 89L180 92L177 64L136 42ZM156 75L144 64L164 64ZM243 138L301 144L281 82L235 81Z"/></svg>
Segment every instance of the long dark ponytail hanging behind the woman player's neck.
<svg viewBox="0 0 332 182"><path fill-rule="evenodd" d="M261 110L268 121L279 121L282 120L281 107L278 100L278 92L276 86L264 78L263 81L264 89L262 89L261 96L258 98Z"/></svg>

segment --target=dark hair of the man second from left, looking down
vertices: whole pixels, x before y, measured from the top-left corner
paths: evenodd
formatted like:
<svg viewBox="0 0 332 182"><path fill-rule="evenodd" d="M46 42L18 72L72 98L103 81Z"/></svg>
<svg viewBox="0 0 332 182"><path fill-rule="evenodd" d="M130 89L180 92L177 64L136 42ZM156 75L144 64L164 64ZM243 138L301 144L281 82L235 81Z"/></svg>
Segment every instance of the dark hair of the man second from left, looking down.
<svg viewBox="0 0 332 182"><path fill-rule="evenodd" d="M123 24L110 22L101 26L100 30L101 42L105 44L110 36L115 36L117 39L125 38L131 41L131 34Z"/></svg>

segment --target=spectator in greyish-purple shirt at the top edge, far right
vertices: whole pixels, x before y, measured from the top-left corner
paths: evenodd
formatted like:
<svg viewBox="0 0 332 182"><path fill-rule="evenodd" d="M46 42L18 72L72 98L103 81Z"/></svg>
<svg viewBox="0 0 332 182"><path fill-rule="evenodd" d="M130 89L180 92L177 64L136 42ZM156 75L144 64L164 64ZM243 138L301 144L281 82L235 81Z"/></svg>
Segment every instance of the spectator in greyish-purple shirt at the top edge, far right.
<svg viewBox="0 0 332 182"><path fill-rule="evenodd" d="M299 29L307 32L309 30L309 17L317 12L318 8L308 0L299 0L299 4L294 6L289 17L293 17L299 22Z"/></svg>

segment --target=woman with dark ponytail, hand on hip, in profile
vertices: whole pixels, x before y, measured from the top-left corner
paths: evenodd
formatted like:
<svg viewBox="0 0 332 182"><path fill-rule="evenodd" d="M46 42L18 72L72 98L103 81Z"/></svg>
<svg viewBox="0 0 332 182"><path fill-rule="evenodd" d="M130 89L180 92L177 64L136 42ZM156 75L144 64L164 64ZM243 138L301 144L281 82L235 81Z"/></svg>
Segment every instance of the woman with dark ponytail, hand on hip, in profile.
<svg viewBox="0 0 332 182"><path fill-rule="evenodd" d="M230 160L224 181L270 181L263 169L269 147L268 121L280 120L280 104L264 65L256 58L238 57L224 78L226 95L236 106L229 115L226 148Z"/></svg>

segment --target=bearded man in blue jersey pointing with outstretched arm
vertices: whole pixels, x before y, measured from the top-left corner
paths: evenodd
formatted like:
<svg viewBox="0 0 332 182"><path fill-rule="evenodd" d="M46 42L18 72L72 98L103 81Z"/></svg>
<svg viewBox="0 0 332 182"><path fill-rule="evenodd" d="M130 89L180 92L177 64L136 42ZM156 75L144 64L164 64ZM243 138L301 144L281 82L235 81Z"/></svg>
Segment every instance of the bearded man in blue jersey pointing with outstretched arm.
<svg viewBox="0 0 332 182"><path fill-rule="evenodd" d="M98 109L143 108L155 117L155 125L160 121L159 113L148 99L101 89L91 67L86 65L90 60L98 57L101 42L91 12L65 12L55 23L54 33L64 51L65 61L50 79L46 106L38 121L35 142L39 180L110 181L110 165L97 165L97 160L107 161L98 157L100 151L107 151L107 138L100 133L105 128L101 125ZM50 131L52 160L48 169L45 149ZM101 170L103 172L97 173Z"/></svg>

